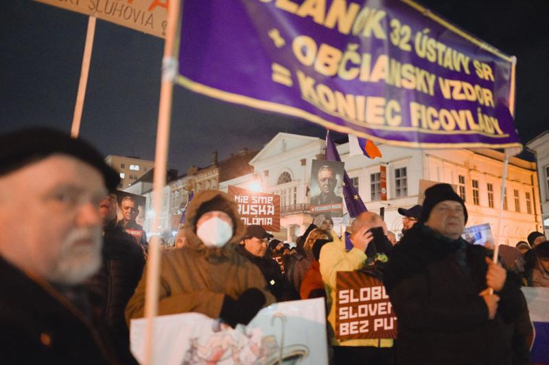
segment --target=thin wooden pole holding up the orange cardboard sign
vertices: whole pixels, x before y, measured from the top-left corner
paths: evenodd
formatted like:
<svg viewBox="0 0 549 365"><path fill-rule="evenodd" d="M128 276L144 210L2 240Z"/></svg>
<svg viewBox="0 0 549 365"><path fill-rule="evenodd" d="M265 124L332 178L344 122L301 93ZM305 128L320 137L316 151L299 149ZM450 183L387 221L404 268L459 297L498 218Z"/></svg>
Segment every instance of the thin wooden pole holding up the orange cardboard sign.
<svg viewBox="0 0 549 365"><path fill-rule="evenodd" d="M90 71L91 51L93 49L93 38L95 36L95 16L88 17L88 32L86 33L86 44L84 45L84 56L82 57L82 69L80 70L80 82L78 83L78 94L74 106L73 123L71 126L71 137L78 138L80 133L80 121L82 120L82 109L86 97L86 86Z"/></svg>

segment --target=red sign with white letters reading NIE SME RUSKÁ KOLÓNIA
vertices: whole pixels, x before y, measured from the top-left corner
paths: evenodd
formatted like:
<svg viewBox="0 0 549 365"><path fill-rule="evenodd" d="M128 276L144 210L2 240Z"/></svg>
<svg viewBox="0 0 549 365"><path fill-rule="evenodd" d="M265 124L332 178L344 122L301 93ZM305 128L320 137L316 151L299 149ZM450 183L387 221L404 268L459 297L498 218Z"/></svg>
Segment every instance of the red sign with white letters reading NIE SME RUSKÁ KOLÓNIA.
<svg viewBox="0 0 549 365"><path fill-rule="evenodd" d="M266 231L280 232L280 196L229 186L229 195L238 206L246 226L258 224Z"/></svg>

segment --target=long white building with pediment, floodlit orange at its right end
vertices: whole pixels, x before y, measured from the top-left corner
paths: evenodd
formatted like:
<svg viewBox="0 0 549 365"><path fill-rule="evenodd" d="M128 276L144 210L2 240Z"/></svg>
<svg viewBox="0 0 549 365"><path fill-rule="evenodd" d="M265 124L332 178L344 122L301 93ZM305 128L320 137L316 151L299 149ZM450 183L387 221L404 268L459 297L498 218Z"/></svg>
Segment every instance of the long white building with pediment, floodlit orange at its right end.
<svg viewBox="0 0 549 365"><path fill-rule="evenodd" d="M369 211L384 208L390 231L401 233L397 212L418 202L419 180L432 180L458 186L469 213L467 226L489 223L497 235L503 176L503 154L495 150L414 150L379 145L383 157L349 156L349 143L338 145L345 170ZM261 176L263 191L281 196L281 232L277 237L293 241L312 222L307 186L312 160L322 159L325 141L315 137L279 133L250 161ZM387 200L380 200L379 169L386 167ZM224 182L246 187L253 179ZM535 164L511 158L506 180L506 202L500 228L502 244L515 245L541 224Z"/></svg>

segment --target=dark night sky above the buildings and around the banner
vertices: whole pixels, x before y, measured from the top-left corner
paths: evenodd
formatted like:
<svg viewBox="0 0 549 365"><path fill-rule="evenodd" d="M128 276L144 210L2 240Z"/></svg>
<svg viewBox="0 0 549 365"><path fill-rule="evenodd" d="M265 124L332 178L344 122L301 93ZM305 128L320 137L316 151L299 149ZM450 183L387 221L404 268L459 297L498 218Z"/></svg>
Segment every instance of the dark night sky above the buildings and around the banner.
<svg viewBox="0 0 549 365"><path fill-rule="evenodd" d="M229 0L228 0L229 1ZM516 126L523 143L549 128L546 0L425 0L432 11L517 56ZM0 10L0 132L70 130L87 17L27 0ZM97 20L80 135L103 154L154 159L163 40ZM169 165L208 165L277 132L323 137L312 123L174 88Z"/></svg>

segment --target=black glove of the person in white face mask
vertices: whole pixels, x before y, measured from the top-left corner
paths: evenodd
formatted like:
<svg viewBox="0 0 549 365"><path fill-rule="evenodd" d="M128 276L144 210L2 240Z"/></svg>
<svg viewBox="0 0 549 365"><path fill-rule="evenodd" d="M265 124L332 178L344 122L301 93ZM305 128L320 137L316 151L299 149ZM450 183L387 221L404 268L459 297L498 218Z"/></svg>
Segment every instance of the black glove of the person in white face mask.
<svg viewBox="0 0 549 365"><path fill-rule="evenodd" d="M220 317L233 328L238 323L248 325L265 302L264 294L256 287L246 289L236 301L231 296L225 295Z"/></svg>

